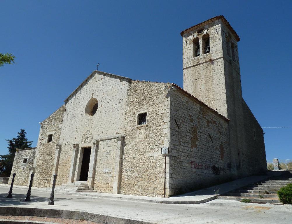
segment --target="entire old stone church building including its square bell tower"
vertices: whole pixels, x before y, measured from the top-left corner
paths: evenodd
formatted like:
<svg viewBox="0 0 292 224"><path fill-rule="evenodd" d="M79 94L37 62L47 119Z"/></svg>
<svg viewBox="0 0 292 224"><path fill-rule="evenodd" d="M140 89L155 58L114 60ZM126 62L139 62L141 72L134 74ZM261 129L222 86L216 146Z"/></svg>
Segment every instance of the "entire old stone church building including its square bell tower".
<svg viewBox="0 0 292 224"><path fill-rule="evenodd" d="M56 173L60 187L170 197L265 173L263 130L241 93L239 36L223 16L181 36L183 88L93 71L41 122L37 147L16 152L15 184L34 173L34 187L50 187Z"/></svg>

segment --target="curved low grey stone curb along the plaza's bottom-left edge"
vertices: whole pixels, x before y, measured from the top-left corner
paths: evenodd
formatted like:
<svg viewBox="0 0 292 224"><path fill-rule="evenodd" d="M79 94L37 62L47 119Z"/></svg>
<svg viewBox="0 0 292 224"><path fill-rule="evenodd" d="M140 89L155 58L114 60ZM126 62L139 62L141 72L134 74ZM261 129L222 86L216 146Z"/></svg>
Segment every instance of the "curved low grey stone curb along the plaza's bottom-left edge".
<svg viewBox="0 0 292 224"><path fill-rule="evenodd" d="M50 218L70 218L77 220L86 220L104 224L154 224L133 219L119 218L114 216L105 216L101 214L69 211L60 209L38 209L25 207L0 207L0 214L5 216L41 216ZM29 221L32 223L32 221Z"/></svg>

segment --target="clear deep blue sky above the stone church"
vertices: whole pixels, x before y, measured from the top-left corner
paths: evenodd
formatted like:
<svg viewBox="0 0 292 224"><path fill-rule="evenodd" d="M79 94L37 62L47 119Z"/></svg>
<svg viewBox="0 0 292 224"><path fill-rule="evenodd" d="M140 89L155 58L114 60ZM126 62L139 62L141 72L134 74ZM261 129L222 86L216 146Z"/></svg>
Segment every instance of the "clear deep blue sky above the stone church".
<svg viewBox="0 0 292 224"><path fill-rule="evenodd" d="M182 86L180 32L224 15L238 43L243 97L262 127L292 126L292 1L1 1L0 154L100 63L131 79ZM292 159L292 129L264 129L267 159Z"/></svg>

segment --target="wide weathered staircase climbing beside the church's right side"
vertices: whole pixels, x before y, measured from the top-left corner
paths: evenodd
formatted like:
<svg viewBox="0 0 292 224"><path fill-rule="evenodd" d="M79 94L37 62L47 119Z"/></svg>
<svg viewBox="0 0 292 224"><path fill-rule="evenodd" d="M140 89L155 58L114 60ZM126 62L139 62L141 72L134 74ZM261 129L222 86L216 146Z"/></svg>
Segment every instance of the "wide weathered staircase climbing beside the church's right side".
<svg viewBox="0 0 292 224"><path fill-rule="evenodd" d="M219 196L218 198L236 201L250 199L251 202L260 204L282 204L277 195L277 191L280 190L281 187L286 186L288 183L292 183L292 171L286 171L281 176L272 177L258 183L253 183L246 187L230 191Z"/></svg>

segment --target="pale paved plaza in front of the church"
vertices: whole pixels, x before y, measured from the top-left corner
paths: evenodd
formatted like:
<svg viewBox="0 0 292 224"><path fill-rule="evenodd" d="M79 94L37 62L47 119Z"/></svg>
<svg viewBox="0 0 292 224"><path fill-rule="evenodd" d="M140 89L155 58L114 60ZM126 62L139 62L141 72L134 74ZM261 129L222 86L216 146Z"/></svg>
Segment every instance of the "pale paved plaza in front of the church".
<svg viewBox="0 0 292 224"><path fill-rule="evenodd" d="M24 202L26 189L14 189L6 198L7 186L0 186L0 206L84 211L149 223L292 223L292 205L249 204L215 199L204 204L159 204L112 198L55 194L32 190L31 202ZM1 214L0 214L1 215ZM139 223L139 222L137 222Z"/></svg>

